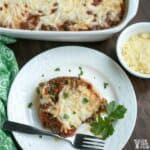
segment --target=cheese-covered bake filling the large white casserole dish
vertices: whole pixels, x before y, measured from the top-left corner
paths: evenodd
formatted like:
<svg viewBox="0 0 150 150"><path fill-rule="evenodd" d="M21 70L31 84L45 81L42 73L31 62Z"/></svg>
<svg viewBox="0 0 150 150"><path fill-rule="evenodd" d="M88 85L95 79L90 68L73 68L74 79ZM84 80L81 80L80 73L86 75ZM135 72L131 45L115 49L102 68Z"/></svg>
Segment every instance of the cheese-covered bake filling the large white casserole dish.
<svg viewBox="0 0 150 150"><path fill-rule="evenodd" d="M124 12L125 0L0 0L0 27L101 30L119 24Z"/></svg>

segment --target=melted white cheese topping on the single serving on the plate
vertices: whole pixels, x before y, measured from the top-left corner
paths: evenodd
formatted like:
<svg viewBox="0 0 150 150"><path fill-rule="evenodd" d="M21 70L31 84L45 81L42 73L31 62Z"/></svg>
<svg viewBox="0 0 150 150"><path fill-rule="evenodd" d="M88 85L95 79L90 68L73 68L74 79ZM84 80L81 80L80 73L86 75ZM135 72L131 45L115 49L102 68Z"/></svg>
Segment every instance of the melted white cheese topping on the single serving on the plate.
<svg viewBox="0 0 150 150"><path fill-rule="evenodd" d="M87 86L79 85L72 88L65 85L58 95L58 102L54 103L49 95L45 95L45 88L41 88L42 105L51 103L42 111L52 114L61 122L61 131L67 132L72 127L79 127L83 122L96 114L100 106L106 104L106 100L98 96ZM66 94L66 96L65 96Z"/></svg>

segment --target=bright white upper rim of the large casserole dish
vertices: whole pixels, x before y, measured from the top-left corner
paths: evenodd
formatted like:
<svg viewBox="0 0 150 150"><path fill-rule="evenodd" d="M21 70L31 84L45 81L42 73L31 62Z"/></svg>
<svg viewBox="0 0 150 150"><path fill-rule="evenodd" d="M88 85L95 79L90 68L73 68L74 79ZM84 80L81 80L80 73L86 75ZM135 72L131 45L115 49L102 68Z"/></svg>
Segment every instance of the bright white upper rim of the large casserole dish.
<svg viewBox="0 0 150 150"><path fill-rule="evenodd" d="M127 0L127 3L129 0ZM127 4L128 5L128 4ZM104 30L95 30L95 31L35 31L35 30L22 30L22 29L9 29L9 28L3 28L0 27L0 31L2 32L6 32L6 33L22 33L25 35L28 34L33 34L33 35L37 35L37 34L44 34L44 35L49 35L49 34L54 34L54 35L60 35L60 34L64 34L64 35L86 35L86 34L101 34L101 33L115 33L115 32L119 32L121 29L123 29L131 19L134 18L134 16L136 15L137 11L138 11L138 7L139 7L139 0L135 0L135 5L133 6L134 10L129 13L129 11L127 11L125 18L123 19L123 21L115 26L112 27L110 29L104 29ZM128 8L129 9L129 6Z"/></svg>

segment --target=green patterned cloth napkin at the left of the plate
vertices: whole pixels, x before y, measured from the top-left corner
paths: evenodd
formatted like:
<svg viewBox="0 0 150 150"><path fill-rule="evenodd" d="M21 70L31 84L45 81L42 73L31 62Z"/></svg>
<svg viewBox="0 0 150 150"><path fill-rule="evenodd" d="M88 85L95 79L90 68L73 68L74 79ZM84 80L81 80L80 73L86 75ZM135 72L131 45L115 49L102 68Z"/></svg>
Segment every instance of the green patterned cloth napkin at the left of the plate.
<svg viewBox="0 0 150 150"><path fill-rule="evenodd" d="M10 85L18 72L13 52L5 44L16 42L12 38L0 35L0 150L16 150L12 136L2 130L7 119L7 96Z"/></svg>

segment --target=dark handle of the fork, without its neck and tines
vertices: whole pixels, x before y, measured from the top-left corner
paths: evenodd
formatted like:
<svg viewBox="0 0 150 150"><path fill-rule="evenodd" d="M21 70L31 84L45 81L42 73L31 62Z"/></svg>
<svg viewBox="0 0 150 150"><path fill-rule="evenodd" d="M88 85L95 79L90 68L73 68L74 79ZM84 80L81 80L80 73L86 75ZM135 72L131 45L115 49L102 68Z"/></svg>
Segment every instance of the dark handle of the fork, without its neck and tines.
<svg viewBox="0 0 150 150"><path fill-rule="evenodd" d="M12 121L5 121L3 125L3 129L8 130L8 131L17 131L21 133L36 134L36 135L46 135L46 136L56 137L59 139L64 139L63 137L57 134L51 133L49 131L40 130L38 128L29 126L29 125L12 122Z"/></svg>

